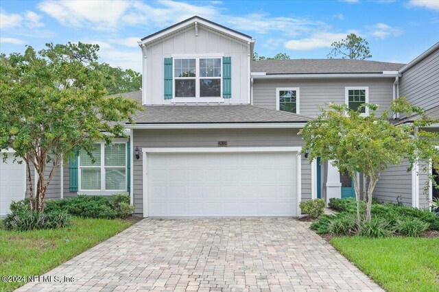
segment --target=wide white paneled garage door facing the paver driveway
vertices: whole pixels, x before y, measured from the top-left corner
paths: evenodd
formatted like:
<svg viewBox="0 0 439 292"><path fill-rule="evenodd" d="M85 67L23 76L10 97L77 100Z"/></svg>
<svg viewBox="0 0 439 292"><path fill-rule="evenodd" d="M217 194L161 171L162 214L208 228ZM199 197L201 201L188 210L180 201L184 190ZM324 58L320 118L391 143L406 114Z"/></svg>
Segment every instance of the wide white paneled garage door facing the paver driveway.
<svg viewBox="0 0 439 292"><path fill-rule="evenodd" d="M148 154L150 217L294 217L296 154Z"/></svg>

